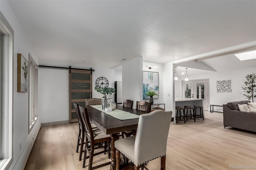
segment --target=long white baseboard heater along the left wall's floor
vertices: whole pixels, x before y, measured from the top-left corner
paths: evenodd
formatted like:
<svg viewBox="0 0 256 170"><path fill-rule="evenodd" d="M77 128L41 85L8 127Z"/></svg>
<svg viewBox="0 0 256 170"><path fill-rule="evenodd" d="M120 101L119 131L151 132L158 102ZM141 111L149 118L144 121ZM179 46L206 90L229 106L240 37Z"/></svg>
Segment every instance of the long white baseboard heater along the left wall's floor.
<svg viewBox="0 0 256 170"><path fill-rule="evenodd" d="M41 123L37 122L36 126L34 127L34 130L32 131L32 134L28 138L28 142L26 143L25 147L23 148L13 169L24 170L26 163L28 161L28 157L33 148L34 142L36 141L36 136L37 136L40 128L41 128Z"/></svg>

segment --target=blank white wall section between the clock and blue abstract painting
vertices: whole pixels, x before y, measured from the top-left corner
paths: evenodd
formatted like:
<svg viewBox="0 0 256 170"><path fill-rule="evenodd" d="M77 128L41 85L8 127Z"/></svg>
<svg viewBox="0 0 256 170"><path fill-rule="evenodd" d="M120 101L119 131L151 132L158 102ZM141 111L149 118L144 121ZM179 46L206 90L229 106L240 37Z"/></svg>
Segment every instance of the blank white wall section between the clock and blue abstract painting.
<svg viewBox="0 0 256 170"><path fill-rule="evenodd" d="M142 57L137 57L122 64L123 99L142 101Z"/></svg>

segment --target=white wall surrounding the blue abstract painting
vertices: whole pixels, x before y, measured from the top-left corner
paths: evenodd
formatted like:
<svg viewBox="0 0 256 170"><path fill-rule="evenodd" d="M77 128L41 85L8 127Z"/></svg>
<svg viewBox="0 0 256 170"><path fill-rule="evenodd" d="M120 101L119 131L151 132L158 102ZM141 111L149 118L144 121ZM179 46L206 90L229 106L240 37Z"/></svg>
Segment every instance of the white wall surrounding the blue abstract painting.
<svg viewBox="0 0 256 170"><path fill-rule="evenodd" d="M147 65L155 66L158 68L152 67L151 69L149 69L148 67L146 67ZM163 103L164 102L164 65L159 63L151 63L151 62L143 61L143 71L158 72L159 95L158 95L158 99L154 99L154 103ZM143 101L149 102L149 99L143 99Z"/></svg>

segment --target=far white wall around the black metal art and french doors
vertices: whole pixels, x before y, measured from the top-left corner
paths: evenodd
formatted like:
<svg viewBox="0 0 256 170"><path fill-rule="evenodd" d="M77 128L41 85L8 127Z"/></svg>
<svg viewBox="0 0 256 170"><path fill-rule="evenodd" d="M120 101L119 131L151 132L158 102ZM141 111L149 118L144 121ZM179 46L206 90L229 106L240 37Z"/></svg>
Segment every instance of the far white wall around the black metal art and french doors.
<svg viewBox="0 0 256 170"><path fill-rule="evenodd" d="M193 79L209 79L209 95L210 95L210 105L222 105L231 101L247 100L243 95L242 86L244 86L245 76L247 74L256 73L256 67L237 69L225 72L212 72L200 75L189 75L189 80ZM184 80L184 75L178 77L178 81L175 82L176 97L180 97L181 80ZM221 80L231 80L231 93L217 93L216 81ZM220 110L221 111L221 110Z"/></svg>

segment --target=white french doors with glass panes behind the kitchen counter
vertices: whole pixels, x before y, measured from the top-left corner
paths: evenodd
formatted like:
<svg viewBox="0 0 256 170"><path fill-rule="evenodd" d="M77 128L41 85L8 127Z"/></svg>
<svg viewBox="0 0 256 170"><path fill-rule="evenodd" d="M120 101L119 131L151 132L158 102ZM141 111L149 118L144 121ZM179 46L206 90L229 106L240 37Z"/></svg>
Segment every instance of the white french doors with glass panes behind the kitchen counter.
<svg viewBox="0 0 256 170"><path fill-rule="evenodd" d="M205 99L204 109L209 108L209 80L182 81L182 97Z"/></svg>

